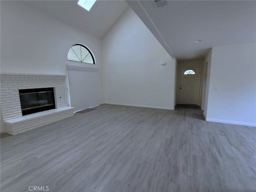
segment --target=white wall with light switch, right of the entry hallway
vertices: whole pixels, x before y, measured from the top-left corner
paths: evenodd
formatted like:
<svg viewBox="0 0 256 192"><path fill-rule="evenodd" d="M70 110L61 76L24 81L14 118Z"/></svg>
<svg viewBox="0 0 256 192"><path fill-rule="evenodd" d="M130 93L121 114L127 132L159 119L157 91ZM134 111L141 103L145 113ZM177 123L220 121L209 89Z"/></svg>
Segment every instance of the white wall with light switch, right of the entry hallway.
<svg viewBox="0 0 256 192"><path fill-rule="evenodd" d="M255 42L212 48L207 121L256 126L255 52Z"/></svg>

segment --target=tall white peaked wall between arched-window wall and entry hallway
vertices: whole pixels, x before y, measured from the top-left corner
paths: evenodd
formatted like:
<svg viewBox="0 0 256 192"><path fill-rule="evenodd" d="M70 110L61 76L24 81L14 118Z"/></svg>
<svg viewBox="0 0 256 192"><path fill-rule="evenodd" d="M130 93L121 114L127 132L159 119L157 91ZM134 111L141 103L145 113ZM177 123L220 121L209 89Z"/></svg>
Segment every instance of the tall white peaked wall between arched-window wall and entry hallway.
<svg viewBox="0 0 256 192"><path fill-rule="evenodd" d="M174 109L176 62L131 8L102 39L102 58L106 103Z"/></svg>

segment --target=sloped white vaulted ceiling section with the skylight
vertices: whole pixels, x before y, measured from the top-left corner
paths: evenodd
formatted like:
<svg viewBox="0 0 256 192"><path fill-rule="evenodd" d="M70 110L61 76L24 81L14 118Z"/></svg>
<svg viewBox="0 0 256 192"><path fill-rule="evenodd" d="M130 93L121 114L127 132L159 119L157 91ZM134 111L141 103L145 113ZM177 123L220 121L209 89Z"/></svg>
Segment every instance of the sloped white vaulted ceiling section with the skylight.
<svg viewBox="0 0 256 192"><path fill-rule="evenodd" d="M124 0L97 0L90 12L77 4L78 0L21 1L66 24L102 38L128 9Z"/></svg>

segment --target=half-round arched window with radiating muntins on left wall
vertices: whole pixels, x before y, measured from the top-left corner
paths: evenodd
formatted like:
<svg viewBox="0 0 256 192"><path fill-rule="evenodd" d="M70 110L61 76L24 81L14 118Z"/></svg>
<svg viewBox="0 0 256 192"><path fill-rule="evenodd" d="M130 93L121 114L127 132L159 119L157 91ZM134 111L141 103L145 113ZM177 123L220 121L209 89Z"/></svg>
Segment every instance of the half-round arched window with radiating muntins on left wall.
<svg viewBox="0 0 256 192"><path fill-rule="evenodd" d="M70 48L68 51L68 60L95 64L92 53L82 44L75 44Z"/></svg>

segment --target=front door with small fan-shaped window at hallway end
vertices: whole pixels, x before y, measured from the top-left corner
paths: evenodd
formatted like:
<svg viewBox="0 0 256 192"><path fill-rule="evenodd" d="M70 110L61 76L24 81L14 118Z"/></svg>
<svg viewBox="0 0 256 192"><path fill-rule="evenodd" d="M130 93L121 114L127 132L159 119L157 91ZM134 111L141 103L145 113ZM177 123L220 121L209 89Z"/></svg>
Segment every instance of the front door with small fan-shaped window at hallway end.
<svg viewBox="0 0 256 192"><path fill-rule="evenodd" d="M199 101L200 68L180 68L179 104L196 104Z"/></svg>

